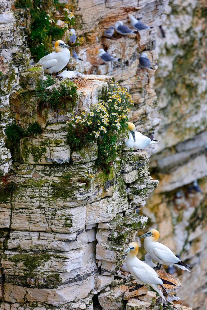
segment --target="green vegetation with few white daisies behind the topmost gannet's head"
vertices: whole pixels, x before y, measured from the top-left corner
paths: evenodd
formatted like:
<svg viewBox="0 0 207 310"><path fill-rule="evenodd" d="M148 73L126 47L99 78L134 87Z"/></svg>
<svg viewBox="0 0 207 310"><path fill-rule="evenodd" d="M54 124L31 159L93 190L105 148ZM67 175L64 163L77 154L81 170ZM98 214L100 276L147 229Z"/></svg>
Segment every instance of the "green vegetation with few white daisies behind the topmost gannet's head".
<svg viewBox="0 0 207 310"><path fill-rule="evenodd" d="M15 7L30 12L31 25L27 34L29 48L35 61L52 52L52 41L60 40L65 30L74 25L72 5L60 3L58 0L17 0ZM65 28L57 25L57 20L54 18L56 11L59 11L63 16ZM80 45L82 41L81 38L77 38L76 46Z"/></svg>

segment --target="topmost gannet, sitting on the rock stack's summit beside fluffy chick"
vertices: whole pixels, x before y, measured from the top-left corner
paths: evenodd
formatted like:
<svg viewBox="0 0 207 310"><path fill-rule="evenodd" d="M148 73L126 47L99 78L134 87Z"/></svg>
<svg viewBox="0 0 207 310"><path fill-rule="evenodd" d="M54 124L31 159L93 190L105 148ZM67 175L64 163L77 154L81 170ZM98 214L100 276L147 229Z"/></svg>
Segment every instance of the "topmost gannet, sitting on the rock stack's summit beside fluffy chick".
<svg viewBox="0 0 207 310"><path fill-rule="evenodd" d="M61 71L70 60L70 46L63 41L55 42L56 52L52 52L38 61L38 64L43 64L44 73L56 73Z"/></svg>

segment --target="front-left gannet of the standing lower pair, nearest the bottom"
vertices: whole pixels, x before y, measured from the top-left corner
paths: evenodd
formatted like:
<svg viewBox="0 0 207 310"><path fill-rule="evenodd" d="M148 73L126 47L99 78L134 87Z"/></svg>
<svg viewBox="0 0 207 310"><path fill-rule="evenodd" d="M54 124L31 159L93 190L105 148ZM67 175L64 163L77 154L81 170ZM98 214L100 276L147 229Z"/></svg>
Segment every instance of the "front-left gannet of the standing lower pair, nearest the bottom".
<svg viewBox="0 0 207 310"><path fill-rule="evenodd" d="M160 284L164 289L163 284L169 284L174 286L175 284L158 277L158 274L153 268L151 268L146 263L143 263L141 260L139 260L136 257L138 249L139 249L138 244L136 242L132 242L129 244L128 249L124 252L127 253L127 259L126 259L127 268L139 283L138 287L135 286L130 291L139 289L140 284L149 284L166 302L164 295L160 291L158 285ZM165 289L164 291L166 292Z"/></svg>

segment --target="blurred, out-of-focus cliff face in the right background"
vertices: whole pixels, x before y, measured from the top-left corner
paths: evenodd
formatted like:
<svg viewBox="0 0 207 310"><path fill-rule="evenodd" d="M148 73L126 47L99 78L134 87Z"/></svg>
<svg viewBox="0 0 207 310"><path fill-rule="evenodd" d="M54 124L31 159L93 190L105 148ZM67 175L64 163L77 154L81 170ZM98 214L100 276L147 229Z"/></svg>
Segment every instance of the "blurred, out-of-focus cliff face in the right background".
<svg viewBox="0 0 207 310"><path fill-rule="evenodd" d="M150 162L159 187L143 213L160 240L191 266L191 274L179 276L179 296L196 309L206 308L206 8L205 1L171 1L166 38L158 33L156 39L160 144ZM202 193L189 192L195 179Z"/></svg>

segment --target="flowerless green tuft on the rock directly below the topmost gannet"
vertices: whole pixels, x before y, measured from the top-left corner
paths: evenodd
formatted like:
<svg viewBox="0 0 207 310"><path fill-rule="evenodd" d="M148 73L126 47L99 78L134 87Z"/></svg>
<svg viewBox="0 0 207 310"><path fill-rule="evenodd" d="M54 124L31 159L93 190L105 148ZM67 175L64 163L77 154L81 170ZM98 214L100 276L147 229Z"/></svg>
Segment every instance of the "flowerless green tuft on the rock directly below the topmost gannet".
<svg viewBox="0 0 207 310"><path fill-rule="evenodd" d="M59 87L54 87L52 91L46 91L48 86L51 86L56 82L57 80L49 75L47 76L47 80L40 81L35 91L39 101L39 106L50 107L54 110L72 109L78 99L77 85L68 79L67 82L60 83Z"/></svg>

